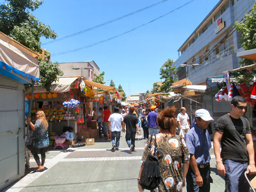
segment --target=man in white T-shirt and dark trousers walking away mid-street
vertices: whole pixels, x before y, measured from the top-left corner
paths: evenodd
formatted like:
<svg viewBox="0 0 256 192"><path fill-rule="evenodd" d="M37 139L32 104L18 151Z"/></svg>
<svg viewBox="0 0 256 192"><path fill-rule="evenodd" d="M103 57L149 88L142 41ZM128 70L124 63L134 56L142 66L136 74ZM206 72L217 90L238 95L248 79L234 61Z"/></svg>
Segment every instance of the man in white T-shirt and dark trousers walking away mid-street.
<svg viewBox="0 0 256 192"><path fill-rule="evenodd" d="M124 121L124 118L119 114L119 109L114 109L114 114L111 114L108 119L108 129L111 131L111 142L112 142L112 151L118 150L119 140L121 135L121 123ZM115 140L116 138L116 140Z"/></svg>

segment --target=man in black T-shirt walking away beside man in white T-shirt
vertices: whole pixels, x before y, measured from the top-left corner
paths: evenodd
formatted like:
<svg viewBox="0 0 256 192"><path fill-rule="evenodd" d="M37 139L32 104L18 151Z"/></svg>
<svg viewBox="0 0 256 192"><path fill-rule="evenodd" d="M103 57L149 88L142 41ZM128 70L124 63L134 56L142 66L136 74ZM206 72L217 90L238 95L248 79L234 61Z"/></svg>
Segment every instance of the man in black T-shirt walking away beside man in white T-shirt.
<svg viewBox="0 0 256 192"><path fill-rule="evenodd" d="M127 145L129 147L129 152L132 153L135 148L135 135L136 132L139 134L139 125L138 125L138 117L133 114L134 108L129 108L129 114L124 117L124 121L122 122L122 131L125 132L126 126L126 135L125 139Z"/></svg>

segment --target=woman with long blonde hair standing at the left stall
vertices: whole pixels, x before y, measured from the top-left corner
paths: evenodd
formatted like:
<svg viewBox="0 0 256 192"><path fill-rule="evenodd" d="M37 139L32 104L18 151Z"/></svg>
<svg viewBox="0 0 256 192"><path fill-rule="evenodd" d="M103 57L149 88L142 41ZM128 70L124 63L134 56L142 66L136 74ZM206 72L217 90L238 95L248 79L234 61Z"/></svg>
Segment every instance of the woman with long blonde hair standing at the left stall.
<svg viewBox="0 0 256 192"><path fill-rule="evenodd" d="M49 138L48 138L48 122L45 118L44 111L37 111L36 113L36 123L35 125L30 122L30 118L28 118L28 123L31 129L34 131L35 143L33 149L33 156L38 165L36 172L44 171L44 162L45 162L45 152L46 147L49 146ZM38 153L41 154L42 162L40 163L40 158Z"/></svg>

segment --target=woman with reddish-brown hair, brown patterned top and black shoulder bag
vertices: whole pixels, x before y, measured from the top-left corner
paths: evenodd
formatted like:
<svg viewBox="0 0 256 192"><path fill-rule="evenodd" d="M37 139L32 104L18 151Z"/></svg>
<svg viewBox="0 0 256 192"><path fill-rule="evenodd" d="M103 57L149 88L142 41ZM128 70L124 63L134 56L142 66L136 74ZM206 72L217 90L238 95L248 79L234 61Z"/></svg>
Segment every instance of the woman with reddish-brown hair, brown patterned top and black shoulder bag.
<svg viewBox="0 0 256 192"><path fill-rule="evenodd" d="M185 178L189 167L189 151L185 141L176 133L176 108L167 108L157 116L159 133L156 134L157 154L159 159L159 169L162 181L159 186L152 191L182 191L185 187ZM150 138L147 141L145 151L141 159L141 167L138 176L143 170L148 155L153 155L155 150L155 137L152 138L151 148L149 149ZM142 187L138 184L140 191Z"/></svg>

